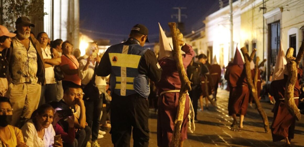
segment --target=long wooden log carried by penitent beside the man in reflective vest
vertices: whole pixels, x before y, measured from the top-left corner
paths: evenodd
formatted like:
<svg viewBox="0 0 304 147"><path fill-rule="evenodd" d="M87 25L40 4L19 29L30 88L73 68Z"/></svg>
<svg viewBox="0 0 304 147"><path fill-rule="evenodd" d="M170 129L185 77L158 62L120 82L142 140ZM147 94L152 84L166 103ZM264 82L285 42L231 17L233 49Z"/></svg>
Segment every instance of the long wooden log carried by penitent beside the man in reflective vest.
<svg viewBox="0 0 304 147"><path fill-rule="evenodd" d="M178 35L180 34L179 30L176 28L175 23L168 23L173 42L173 51L174 60L176 62L176 67L178 70L179 78L181 79L181 90L178 97L178 107L177 114L174 121L174 130L172 135L172 141L170 146L177 147L179 145L181 137L181 124L183 122L184 110L185 110L185 101L187 97L188 90L191 90L191 82L189 81L185 68L183 65L183 60L181 56L181 47L178 45Z"/></svg>

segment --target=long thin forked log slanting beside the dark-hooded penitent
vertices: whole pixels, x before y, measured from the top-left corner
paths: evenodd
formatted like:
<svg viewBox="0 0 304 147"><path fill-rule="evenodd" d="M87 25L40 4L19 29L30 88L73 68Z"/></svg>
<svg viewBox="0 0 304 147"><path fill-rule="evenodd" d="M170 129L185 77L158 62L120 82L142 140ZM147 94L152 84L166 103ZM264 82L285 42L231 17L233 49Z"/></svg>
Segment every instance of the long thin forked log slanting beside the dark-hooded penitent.
<svg viewBox="0 0 304 147"><path fill-rule="evenodd" d="M246 70L246 80L247 80L247 84L248 84L248 88L250 90L250 95L254 98L254 101L255 101L255 105L257 106L257 111L260 113L262 119L263 119L263 122L264 122L264 130L266 133L269 133L270 132L270 129L269 129L269 122L268 122L268 117L267 117L267 114L265 113L265 111L263 110L263 107L259 101L259 98L257 96L257 87L256 87L256 82L257 82L257 70L258 70L258 60L260 60L259 58L257 58L257 62L256 62L256 65L255 65L255 76L254 76L254 79L256 79L254 81L254 84L252 82L252 78L251 78L251 71L250 71L250 62L251 62L251 58L250 56L248 55L248 51L247 51L247 48L246 47L242 47L241 48L241 51L242 51L242 54L244 56L244 59L245 59L245 70ZM251 53L251 56L252 54L254 54L255 52Z"/></svg>

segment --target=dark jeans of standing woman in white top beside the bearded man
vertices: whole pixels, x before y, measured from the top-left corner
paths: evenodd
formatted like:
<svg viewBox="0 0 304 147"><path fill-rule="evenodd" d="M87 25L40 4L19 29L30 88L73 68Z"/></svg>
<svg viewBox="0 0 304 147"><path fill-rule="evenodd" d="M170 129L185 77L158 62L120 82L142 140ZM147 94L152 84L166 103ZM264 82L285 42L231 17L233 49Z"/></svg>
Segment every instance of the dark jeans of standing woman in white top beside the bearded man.
<svg viewBox="0 0 304 147"><path fill-rule="evenodd" d="M50 101L57 101L56 94L57 94L57 83L46 84L44 86L41 86L41 94L40 94L40 101L38 107Z"/></svg>

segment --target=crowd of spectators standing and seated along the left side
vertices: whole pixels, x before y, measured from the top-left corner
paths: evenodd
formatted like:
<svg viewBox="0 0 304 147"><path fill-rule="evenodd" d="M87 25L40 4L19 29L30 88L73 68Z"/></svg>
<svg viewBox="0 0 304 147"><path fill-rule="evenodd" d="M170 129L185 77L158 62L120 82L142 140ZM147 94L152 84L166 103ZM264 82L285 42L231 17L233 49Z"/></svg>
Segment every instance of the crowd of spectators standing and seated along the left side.
<svg viewBox="0 0 304 147"><path fill-rule="evenodd" d="M111 96L109 77L94 72L97 43L81 57L71 42L35 37L32 27L27 17L14 33L0 25L0 146L101 146Z"/></svg>

